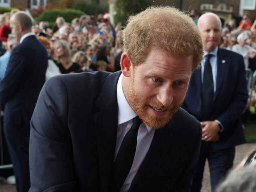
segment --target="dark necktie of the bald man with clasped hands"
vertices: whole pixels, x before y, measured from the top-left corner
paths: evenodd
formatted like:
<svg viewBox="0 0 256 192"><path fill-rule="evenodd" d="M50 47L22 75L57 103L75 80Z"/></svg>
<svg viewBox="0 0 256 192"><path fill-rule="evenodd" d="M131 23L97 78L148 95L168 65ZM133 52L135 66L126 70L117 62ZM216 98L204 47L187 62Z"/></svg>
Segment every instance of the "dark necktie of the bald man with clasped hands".
<svg viewBox="0 0 256 192"><path fill-rule="evenodd" d="M206 56L204 64L203 86L202 86L202 120L209 120L209 114L213 105L214 87L210 58L212 54Z"/></svg>

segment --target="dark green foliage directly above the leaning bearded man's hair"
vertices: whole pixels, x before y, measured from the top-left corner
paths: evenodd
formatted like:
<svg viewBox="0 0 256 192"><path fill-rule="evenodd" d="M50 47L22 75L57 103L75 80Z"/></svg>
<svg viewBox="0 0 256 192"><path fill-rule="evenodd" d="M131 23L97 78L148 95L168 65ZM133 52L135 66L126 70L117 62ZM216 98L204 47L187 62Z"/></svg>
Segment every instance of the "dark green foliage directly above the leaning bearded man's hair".
<svg viewBox="0 0 256 192"><path fill-rule="evenodd" d="M144 11L151 5L150 0L116 0L115 2L115 23L126 23L130 15Z"/></svg>

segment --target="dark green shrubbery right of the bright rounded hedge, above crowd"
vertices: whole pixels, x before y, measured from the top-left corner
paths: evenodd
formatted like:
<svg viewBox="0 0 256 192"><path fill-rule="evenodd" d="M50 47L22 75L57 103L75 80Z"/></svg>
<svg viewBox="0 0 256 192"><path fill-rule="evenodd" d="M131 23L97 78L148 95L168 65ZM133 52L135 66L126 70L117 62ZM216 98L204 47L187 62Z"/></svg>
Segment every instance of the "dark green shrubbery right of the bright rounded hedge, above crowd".
<svg viewBox="0 0 256 192"><path fill-rule="evenodd" d="M108 12L108 6L97 5L96 3L86 3L84 0L78 0L77 3L73 5L74 9L79 9L86 13L86 15L97 16L100 13Z"/></svg>

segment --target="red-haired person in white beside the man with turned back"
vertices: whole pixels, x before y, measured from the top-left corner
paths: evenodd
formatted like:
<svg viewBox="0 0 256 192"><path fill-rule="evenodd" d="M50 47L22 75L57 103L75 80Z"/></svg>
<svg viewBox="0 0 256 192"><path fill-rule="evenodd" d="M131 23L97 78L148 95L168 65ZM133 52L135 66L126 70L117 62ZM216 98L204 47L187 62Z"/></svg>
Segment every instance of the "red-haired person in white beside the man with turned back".
<svg viewBox="0 0 256 192"><path fill-rule="evenodd" d="M39 36L37 39L45 46L47 53L48 53L48 57L49 57L50 53L51 53L49 39L47 37L43 37L43 36ZM45 81L47 81L48 79L50 79L53 76L60 75L60 74L61 74L60 70L56 66L54 61L51 59L48 59L48 67L47 67L46 74L45 74Z"/></svg>

